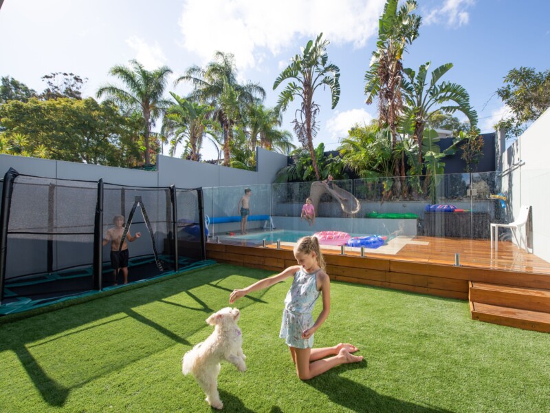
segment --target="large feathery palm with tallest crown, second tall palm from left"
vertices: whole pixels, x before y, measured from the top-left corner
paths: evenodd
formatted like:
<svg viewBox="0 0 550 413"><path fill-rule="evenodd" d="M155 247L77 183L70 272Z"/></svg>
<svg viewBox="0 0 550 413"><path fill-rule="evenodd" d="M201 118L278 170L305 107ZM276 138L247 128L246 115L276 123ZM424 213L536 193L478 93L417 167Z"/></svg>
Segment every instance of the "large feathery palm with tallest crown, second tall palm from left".
<svg viewBox="0 0 550 413"><path fill-rule="evenodd" d="M214 54L214 61L205 68L189 67L183 76L176 79L192 83L194 90L190 98L214 107L212 119L217 120L223 130L223 165L230 165L230 143L233 128L241 119L246 105L265 98L265 90L256 83L240 85L237 80L234 56L223 52ZM259 96L259 97L258 97Z"/></svg>

